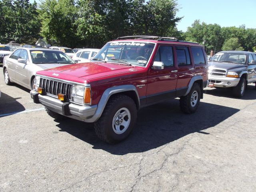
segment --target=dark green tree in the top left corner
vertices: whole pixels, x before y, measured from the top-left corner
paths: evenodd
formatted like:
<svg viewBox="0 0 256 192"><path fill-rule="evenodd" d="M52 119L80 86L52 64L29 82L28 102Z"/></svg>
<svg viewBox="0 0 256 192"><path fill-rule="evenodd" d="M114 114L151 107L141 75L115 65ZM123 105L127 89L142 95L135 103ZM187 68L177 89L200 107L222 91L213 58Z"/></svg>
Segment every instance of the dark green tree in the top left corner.
<svg viewBox="0 0 256 192"><path fill-rule="evenodd" d="M40 22L36 2L29 0L0 1L0 40L8 42L34 42L39 37Z"/></svg>

